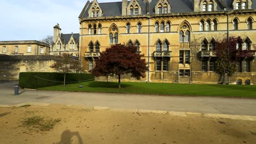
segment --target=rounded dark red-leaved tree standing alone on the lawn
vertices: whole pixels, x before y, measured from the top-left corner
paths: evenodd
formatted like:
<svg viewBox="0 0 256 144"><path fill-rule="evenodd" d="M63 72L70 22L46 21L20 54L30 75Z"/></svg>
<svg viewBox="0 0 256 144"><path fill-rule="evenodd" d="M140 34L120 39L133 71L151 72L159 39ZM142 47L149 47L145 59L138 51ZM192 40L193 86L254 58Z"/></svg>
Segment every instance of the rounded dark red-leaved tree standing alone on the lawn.
<svg viewBox="0 0 256 144"><path fill-rule="evenodd" d="M146 77L148 70L143 55L137 53L137 47L126 45L113 45L101 52L100 58L96 59L96 66L91 70L95 76L118 75L118 88L121 88L120 76L131 74L137 80Z"/></svg>

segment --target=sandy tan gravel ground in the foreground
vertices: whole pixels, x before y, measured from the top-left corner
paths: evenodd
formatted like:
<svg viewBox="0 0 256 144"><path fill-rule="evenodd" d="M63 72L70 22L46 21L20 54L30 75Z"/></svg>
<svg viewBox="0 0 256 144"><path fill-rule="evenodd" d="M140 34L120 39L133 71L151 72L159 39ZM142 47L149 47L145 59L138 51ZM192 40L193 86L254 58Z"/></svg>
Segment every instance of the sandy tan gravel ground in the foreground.
<svg viewBox="0 0 256 144"><path fill-rule="evenodd" d="M22 126L33 116L61 121L50 131ZM253 143L256 121L83 110L64 105L0 107L0 143Z"/></svg>

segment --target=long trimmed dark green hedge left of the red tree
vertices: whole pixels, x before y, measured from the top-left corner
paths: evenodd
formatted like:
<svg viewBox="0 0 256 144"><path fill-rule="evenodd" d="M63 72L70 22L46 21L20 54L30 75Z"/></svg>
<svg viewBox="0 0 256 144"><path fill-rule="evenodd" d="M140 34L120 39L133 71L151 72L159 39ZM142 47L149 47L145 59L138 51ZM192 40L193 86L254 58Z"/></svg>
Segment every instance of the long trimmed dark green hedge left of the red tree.
<svg viewBox="0 0 256 144"><path fill-rule="evenodd" d="M36 77L37 76L37 77ZM20 73L19 85L21 88L32 88L37 89L41 87L62 85L64 79L63 73L38 73L38 72L27 72ZM94 76L91 74L66 74L66 84L75 83L78 81L93 81Z"/></svg>

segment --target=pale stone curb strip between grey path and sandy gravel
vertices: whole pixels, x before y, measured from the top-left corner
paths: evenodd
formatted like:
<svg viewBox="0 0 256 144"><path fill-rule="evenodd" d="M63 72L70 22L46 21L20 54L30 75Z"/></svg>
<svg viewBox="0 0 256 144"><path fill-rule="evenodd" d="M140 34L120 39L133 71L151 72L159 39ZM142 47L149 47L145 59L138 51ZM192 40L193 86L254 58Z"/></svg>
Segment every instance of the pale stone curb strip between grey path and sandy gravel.
<svg viewBox="0 0 256 144"><path fill-rule="evenodd" d="M32 106L49 106L49 103L21 103L17 105L0 105L0 107L20 107L25 105ZM163 111L163 110L144 110L144 109L126 109L119 107L104 107L104 106L85 106L85 105L65 105L72 109L83 109L83 110L101 110L101 111L115 111L115 112L138 112L138 113L156 113L161 115L188 117L189 115L196 115L208 118L228 118L234 120L244 120L244 121L256 121L256 116L244 116L244 115L225 115L217 113L197 113L197 112L179 112L179 111Z"/></svg>

